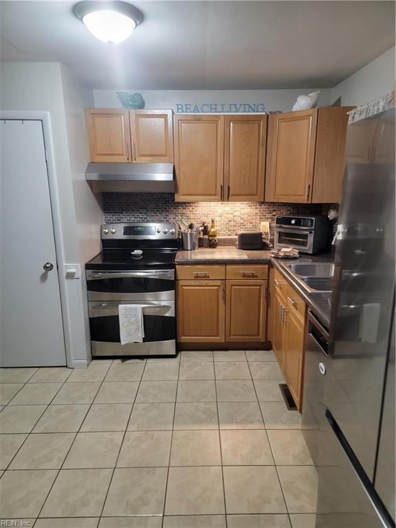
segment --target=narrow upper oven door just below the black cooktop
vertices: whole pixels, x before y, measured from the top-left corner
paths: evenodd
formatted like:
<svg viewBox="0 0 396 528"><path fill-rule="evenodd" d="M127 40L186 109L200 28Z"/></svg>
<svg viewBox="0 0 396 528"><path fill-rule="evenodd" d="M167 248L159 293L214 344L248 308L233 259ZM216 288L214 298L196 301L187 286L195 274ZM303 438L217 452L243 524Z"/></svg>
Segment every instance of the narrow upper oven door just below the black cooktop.
<svg viewBox="0 0 396 528"><path fill-rule="evenodd" d="M175 300L175 270L87 270L88 300Z"/></svg>

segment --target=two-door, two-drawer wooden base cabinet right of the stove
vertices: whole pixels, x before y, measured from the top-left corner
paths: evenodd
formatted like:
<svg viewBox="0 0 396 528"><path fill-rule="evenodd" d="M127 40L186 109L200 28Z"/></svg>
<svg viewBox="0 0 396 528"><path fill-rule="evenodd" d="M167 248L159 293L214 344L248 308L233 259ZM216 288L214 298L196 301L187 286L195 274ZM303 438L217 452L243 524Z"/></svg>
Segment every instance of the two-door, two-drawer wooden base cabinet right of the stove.
<svg viewBox="0 0 396 528"><path fill-rule="evenodd" d="M267 265L177 265L176 276L177 342L265 342Z"/></svg>

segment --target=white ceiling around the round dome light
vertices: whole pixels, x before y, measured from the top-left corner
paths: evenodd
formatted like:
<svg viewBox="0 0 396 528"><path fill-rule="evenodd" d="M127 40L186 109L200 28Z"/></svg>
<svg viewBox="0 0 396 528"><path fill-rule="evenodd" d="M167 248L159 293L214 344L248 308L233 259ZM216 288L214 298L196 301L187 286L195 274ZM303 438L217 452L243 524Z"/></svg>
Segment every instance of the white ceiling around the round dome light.
<svg viewBox="0 0 396 528"><path fill-rule="evenodd" d="M395 44L393 1L137 1L124 43L74 2L1 1L1 60L59 61L96 89L333 87Z"/></svg>

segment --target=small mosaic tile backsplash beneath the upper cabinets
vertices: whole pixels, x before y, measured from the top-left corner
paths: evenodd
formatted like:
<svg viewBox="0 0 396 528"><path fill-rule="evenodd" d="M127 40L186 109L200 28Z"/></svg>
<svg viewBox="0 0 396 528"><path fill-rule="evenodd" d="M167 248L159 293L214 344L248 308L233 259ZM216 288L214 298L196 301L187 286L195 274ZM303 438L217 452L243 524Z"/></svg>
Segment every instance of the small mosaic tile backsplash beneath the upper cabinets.
<svg viewBox="0 0 396 528"><path fill-rule="evenodd" d="M338 203L177 202L168 194L103 193L105 223L178 222L184 214L194 223L214 218L223 236L258 230L261 221L273 223L277 214L327 214L329 209L338 210Z"/></svg>

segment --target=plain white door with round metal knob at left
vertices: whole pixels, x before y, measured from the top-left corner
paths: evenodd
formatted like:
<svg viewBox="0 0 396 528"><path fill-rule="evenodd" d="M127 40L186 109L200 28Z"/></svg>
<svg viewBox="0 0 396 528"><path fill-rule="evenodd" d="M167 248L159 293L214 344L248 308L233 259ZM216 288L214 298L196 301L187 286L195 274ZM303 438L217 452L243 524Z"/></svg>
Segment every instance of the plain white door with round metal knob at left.
<svg viewBox="0 0 396 528"><path fill-rule="evenodd" d="M0 141L0 366L65 365L41 121L1 120Z"/></svg>

